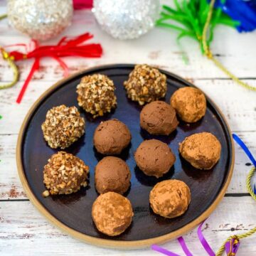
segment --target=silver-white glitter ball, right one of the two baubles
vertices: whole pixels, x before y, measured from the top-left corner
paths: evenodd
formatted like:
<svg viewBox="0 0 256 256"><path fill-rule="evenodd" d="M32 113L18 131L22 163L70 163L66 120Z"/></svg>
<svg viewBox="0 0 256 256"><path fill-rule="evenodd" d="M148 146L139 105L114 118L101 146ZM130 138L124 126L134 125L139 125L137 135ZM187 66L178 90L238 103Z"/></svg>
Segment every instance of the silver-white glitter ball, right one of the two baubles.
<svg viewBox="0 0 256 256"><path fill-rule="evenodd" d="M92 11L102 29L114 38L132 39L154 27L159 0L95 0Z"/></svg>

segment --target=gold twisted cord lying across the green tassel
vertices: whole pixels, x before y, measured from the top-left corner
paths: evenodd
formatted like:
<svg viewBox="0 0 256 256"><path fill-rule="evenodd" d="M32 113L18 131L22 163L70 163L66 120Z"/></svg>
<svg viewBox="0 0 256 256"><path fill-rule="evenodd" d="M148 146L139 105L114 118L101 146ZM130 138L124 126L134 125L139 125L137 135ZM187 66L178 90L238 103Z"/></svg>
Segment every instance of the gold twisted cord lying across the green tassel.
<svg viewBox="0 0 256 256"><path fill-rule="evenodd" d="M210 26L210 20L213 16L213 7L215 4L215 0L210 0L210 10L208 12L208 16L206 19L206 24L203 27L203 36L202 36L202 43L203 43L203 50L206 53L206 56L210 59L213 60L213 62L215 63L215 65L220 68L220 70L223 70L223 72L228 75L233 81L237 82L238 85L241 85L242 87L247 88L248 90L254 90L256 91L256 87L253 87L252 85L248 85L246 82L242 82L239 78L237 78L235 75L233 75L233 73L230 73L230 71L228 71L218 60L216 60L213 57L213 53L211 53L210 48L207 44L206 38L207 38L207 31L208 31L208 27Z"/></svg>

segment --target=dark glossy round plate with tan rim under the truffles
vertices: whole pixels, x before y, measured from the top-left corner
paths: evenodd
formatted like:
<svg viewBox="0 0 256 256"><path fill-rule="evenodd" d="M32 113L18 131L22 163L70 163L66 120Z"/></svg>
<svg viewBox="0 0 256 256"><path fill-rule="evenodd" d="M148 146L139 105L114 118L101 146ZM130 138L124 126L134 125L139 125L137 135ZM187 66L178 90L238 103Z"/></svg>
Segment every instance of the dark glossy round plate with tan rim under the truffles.
<svg viewBox="0 0 256 256"><path fill-rule="evenodd" d="M170 136L151 136L139 127L139 112L142 107L137 102L128 100L123 82L127 80L134 65L107 65L85 70L50 87L36 101L28 112L18 137L17 165L18 173L28 198L59 228L70 235L96 245L107 247L142 247L156 242L164 242L188 232L214 210L223 198L233 173L233 142L228 124L218 107L207 97L206 116L194 124L180 122L178 128ZM193 86L178 76L161 70L166 74L168 92L166 102L179 87ZM76 86L84 75L102 73L110 77L117 87L117 109L104 117L92 119L89 114L78 107ZM65 151L80 157L90 166L90 183L77 193L65 196L49 196L43 198L43 166L52 154L51 149L43 139L41 124L46 118L46 112L51 107L65 104L79 108L82 117L86 119L85 135ZM93 148L92 137L100 122L117 118L127 124L132 133L132 143L120 157L124 159L132 172L131 187L124 196L132 203L134 218L132 225L121 235L109 237L97 231L92 222L92 203L98 194L94 185L94 169L102 155ZM201 171L193 168L178 154L178 143L185 137L196 132L211 132L222 145L220 161L213 169ZM156 138L166 142L176 155L174 167L162 178L145 176L134 161L134 151L144 139ZM191 204L186 213L174 219L163 218L153 213L149 206L149 192L159 182L169 178L184 181L191 189Z"/></svg>

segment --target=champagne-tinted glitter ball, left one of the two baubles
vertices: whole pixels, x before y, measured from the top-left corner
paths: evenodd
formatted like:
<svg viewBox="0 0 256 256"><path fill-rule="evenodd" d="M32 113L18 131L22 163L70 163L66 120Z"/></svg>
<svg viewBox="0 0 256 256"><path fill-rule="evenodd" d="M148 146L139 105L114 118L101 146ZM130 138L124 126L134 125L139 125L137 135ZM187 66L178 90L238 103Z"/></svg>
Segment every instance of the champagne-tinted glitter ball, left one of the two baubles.
<svg viewBox="0 0 256 256"><path fill-rule="evenodd" d="M33 39L57 36L71 22L72 0L8 0L9 22Z"/></svg>

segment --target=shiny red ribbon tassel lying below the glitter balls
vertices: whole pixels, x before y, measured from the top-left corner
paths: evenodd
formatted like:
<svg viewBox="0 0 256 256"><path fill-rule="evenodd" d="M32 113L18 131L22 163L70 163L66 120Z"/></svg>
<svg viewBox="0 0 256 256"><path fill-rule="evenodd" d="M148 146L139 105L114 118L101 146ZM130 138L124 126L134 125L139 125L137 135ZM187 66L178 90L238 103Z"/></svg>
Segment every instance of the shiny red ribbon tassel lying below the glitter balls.
<svg viewBox="0 0 256 256"><path fill-rule="evenodd" d="M31 68L28 77L26 78L21 92L18 95L16 100L17 103L20 103L22 97L28 87L28 83L33 77L33 73L38 70L40 59L43 57L51 57L60 63L60 66L64 70L64 75L68 75L68 66L60 60L60 57L65 56L80 56L84 58L99 58L102 55L102 47L98 43L82 44L85 41L89 40L93 36L90 33L82 34L76 38L63 37L56 46L39 46L38 41L32 41L34 43L34 49L28 51L27 53L21 53L19 51L11 51L9 53L9 58L11 60L24 60L27 58L35 58L33 66ZM25 45L26 46L26 45Z"/></svg>

